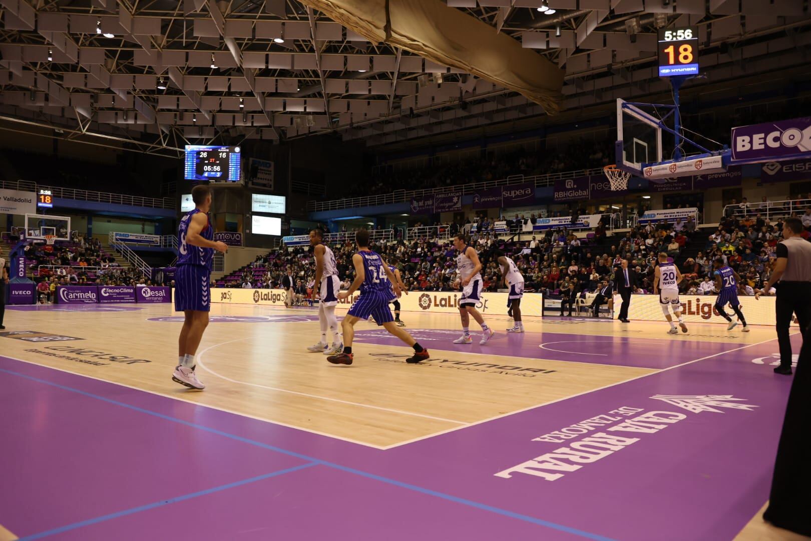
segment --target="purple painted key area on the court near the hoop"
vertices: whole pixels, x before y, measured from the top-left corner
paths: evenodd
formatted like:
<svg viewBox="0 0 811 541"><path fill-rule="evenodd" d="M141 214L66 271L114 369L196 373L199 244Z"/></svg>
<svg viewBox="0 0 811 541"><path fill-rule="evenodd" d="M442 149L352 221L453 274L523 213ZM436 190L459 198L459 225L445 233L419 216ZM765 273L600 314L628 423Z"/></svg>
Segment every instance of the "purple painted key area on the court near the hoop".
<svg viewBox="0 0 811 541"><path fill-rule="evenodd" d="M411 328L411 335L428 350L472 351L473 353L574 361L577 363L611 364L624 367L667 368L701 359L707 355L734 350L740 343L702 342L688 335L663 334L661 338L610 337L598 334L506 333L500 331L485 346L479 346L481 333L471 332L472 344L454 344L461 332L451 329ZM719 333L716 333L719 334ZM403 343L384 329L355 333L356 351L361 344L402 346ZM477 363L478 358L470 360Z"/></svg>

